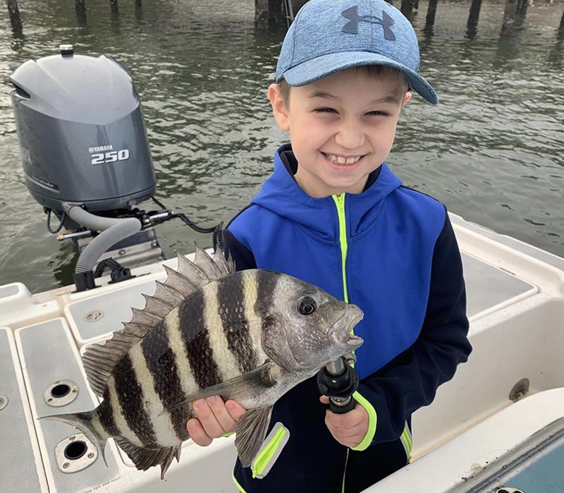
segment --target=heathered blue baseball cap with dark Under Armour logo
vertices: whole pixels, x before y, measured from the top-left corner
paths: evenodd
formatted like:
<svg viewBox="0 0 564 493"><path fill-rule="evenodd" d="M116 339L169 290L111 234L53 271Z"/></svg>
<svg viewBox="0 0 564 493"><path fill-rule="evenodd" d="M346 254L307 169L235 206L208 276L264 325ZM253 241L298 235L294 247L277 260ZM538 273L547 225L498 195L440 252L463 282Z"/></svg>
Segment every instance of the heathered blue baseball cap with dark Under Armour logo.
<svg viewBox="0 0 564 493"><path fill-rule="evenodd" d="M431 104L439 98L417 73L419 44L403 13L384 0L309 0L286 33L276 82L315 82L345 68L384 65L405 74L412 90Z"/></svg>

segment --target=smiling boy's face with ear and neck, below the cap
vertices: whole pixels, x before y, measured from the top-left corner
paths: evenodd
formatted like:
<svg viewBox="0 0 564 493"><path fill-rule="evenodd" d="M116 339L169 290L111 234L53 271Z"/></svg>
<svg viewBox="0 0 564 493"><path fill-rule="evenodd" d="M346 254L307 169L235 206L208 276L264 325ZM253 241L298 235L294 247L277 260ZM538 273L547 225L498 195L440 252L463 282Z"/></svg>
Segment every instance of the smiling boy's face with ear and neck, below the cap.
<svg viewBox="0 0 564 493"><path fill-rule="evenodd" d="M312 197L361 193L384 162L396 135L403 95L400 75L374 78L348 69L292 87L288 108L278 86L269 87L276 123L290 132L298 172Z"/></svg>

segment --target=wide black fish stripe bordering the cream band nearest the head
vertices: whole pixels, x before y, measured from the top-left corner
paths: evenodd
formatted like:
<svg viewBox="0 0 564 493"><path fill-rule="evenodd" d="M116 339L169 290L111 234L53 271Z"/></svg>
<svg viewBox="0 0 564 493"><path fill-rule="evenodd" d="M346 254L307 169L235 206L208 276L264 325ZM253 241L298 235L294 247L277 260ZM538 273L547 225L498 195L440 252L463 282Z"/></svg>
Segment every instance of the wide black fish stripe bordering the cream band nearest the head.
<svg viewBox="0 0 564 493"><path fill-rule="evenodd" d="M258 366L245 313L244 275L244 272L239 272L227 277L219 283L217 290L223 334L242 373L250 372Z"/></svg>

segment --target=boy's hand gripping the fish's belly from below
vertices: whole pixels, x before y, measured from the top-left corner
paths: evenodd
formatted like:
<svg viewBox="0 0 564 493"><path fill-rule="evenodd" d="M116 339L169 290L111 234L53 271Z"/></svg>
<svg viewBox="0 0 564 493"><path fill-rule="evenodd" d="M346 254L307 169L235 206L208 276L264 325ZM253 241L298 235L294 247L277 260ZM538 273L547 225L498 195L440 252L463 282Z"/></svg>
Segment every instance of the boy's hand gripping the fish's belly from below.
<svg viewBox="0 0 564 493"><path fill-rule="evenodd" d="M238 402L226 401L219 396L199 399L192 403L197 419L186 423L190 438L198 445L208 446L228 432L235 431L235 422L245 414L245 408Z"/></svg>

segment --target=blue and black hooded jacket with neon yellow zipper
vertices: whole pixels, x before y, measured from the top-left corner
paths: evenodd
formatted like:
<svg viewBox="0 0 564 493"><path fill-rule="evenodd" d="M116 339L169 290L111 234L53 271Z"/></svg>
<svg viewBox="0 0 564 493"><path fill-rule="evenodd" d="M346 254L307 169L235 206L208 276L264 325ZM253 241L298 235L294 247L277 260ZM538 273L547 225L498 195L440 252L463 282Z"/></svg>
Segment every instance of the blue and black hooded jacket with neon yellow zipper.
<svg viewBox="0 0 564 493"><path fill-rule="evenodd" d="M403 187L386 163L362 193L324 198L300 188L293 178L297 166L290 145L278 149L274 173L228 225L225 250L238 270L285 272L362 309L364 319L355 327L364 339L355 351L355 400L369 413L369 432L350 456L324 426L326 406L310 379L274 406L271 426L283 422L290 440L269 474L253 480L238 463L235 480L247 493L341 492L346 467L349 493L405 464L411 413L431 403L437 387L467 360L462 262L446 208ZM384 471L376 472L372 461L355 468L355 457L362 463L381 454L386 446L376 445L386 442L401 442L407 458L393 459L388 451ZM351 468L355 477L349 477Z"/></svg>

